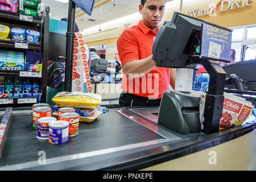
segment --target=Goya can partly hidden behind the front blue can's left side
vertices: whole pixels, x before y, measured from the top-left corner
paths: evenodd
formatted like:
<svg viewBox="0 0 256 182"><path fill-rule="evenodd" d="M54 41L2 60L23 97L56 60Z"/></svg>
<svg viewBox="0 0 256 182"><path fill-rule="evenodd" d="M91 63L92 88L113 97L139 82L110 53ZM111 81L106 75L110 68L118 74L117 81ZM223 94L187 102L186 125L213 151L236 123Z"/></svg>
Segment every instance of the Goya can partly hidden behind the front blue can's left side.
<svg viewBox="0 0 256 182"><path fill-rule="evenodd" d="M49 123L55 122L57 119L54 117L44 117L38 119L38 139L49 139Z"/></svg>

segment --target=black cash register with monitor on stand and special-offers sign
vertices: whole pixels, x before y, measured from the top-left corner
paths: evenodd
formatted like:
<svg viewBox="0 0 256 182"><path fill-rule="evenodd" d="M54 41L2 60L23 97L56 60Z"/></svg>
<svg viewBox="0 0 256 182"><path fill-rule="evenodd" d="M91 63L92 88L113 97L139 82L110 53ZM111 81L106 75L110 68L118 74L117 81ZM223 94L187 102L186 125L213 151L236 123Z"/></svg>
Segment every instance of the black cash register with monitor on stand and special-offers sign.
<svg viewBox="0 0 256 182"><path fill-rule="evenodd" d="M164 22L152 48L156 67L176 68L175 89L163 93L158 124L180 134L219 130L226 72L218 61L229 63L232 30L181 13ZM202 64L210 76L205 95L204 122L200 122L202 93L192 90L193 69Z"/></svg>

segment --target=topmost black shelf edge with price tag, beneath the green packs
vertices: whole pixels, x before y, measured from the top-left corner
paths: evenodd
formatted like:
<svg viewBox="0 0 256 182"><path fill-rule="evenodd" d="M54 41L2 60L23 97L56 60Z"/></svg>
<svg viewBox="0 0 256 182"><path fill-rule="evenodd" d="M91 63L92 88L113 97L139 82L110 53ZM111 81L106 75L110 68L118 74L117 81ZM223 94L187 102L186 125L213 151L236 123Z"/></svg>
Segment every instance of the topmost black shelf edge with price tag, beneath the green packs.
<svg viewBox="0 0 256 182"><path fill-rule="evenodd" d="M9 20L18 20L20 22L30 22L30 23L40 23L42 24L42 18L36 16L28 16L19 13L13 13L10 11L0 10L0 18L5 18Z"/></svg>

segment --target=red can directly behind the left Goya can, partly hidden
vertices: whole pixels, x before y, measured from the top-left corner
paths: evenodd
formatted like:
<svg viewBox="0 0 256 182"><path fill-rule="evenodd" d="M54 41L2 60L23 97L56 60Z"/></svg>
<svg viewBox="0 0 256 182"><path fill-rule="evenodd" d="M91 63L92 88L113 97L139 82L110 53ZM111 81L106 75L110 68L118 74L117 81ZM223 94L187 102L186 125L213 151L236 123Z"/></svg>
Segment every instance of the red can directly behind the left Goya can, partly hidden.
<svg viewBox="0 0 256 182"><path fill-rule="evenodd" d="M36 107L33 110L33 129L38 128L38 119L44 117L51 117L52 116L52 109L51 107Z"/></svg>

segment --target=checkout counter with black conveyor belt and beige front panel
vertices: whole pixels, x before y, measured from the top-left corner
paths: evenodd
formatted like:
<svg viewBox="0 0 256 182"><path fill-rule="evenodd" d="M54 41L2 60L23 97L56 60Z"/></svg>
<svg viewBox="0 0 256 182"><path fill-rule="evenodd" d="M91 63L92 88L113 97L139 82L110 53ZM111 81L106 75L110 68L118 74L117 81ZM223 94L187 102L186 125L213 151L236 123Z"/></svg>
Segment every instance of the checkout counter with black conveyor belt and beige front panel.
<svg viewBox="0 0 256 182"><path fill-rule="evenodd" d="M25 109L25 108L24 108ZM53 146L36 138L32 109L12 110L0 170L254 170L256 122L214 134L182 135L158 125L159 107L115 108ZM42 151L46 163L39 163ZM217 164L209 164L210 151Z"/></svg>

